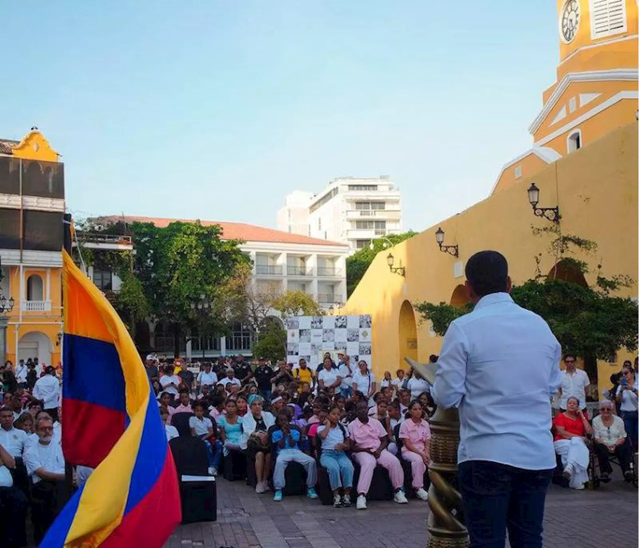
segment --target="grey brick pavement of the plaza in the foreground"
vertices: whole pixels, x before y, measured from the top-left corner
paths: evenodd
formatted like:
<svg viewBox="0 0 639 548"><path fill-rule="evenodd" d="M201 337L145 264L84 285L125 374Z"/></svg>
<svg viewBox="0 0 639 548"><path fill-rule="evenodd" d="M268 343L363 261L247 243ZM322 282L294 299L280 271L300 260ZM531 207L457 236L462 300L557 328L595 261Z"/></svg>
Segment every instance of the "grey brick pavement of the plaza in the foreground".
<svg viewBox="0 0 639 548"><path fill-rule="evenodd" d="M217 483L218 520L180 526L165 548L424 548L427 503L371 502L369 509L321 506L305 497L272 500L243 481ZM551 487L544 546L639 548L639 489L613 481L598 490ZM626 524L626 526L624 526ZM626 532L628 531L628 532Z"/></svg>

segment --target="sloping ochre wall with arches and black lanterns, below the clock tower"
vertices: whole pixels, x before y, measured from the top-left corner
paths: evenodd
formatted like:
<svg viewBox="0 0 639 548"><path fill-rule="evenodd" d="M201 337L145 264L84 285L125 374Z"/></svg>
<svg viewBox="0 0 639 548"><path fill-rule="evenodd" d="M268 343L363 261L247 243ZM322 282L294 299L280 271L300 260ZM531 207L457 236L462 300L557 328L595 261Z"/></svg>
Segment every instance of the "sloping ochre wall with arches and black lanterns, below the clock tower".
<svg viewBox="0 0 639 548"><path fill-rule="evenodd" d="M392 254L396 265L401 262L406 267L405 278L390 273L387 253L378 254L341 311L373 315L374 372L380 375L403 365L400 333L405 337L407 331L405 316L400 322L400 309L407 306L404 303L451 301L455 288L465 280L463 275L454 276L456 262L463 272L473 253L496 249L509 261L514 283L523 283L535 275L534 256L542 253L541 271L550 271L554 264L547 252L551 237L535 237L531 230L531 225L551 224L532 214L527 187L533 180L541 190L539 207L559 205L564 233L597 242L594 256L576 256L592 265L588 283L594 281L598 263L604 275L628 274L639 281L639 254L631 251L639 240L639 224L634 222L639 206L638 150L639 123L632 123L398 244ZM459 260L439 250L438 226L445 231L445 244L459 245ZM620 294L639 295L639 285ZM439 353L442 339L424 323L418 323L416 331L417 356L426 362L430 354ZM619 353L617 366L601 364L600 387L608 386L610 373L619 370L626 356Z"/></svg>

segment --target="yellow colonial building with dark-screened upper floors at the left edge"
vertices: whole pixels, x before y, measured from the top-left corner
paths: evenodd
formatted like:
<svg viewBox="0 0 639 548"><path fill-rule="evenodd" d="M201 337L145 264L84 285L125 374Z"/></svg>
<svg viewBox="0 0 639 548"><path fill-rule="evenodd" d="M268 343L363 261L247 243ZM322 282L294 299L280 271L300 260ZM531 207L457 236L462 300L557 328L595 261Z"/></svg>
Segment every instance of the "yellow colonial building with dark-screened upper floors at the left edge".
<svg viewBox="0 0 639 548"><path fill-rule="evenodd" d="M0 289L13 299L0 334L13 363L60 361L64 214L64 166L42 133L0 139Z"/></svg>

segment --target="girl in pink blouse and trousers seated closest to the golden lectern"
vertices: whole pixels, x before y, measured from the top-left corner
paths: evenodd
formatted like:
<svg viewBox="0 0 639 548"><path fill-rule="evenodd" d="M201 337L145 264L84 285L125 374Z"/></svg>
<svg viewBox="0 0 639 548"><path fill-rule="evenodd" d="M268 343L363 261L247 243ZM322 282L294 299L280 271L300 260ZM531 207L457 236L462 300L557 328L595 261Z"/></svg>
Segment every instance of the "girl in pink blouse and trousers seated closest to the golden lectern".
<svg viewBox="0 0 639 548"><path fill-rule="evenodd" d="M424 473L431 460L430 441L431 428L422 419L422 405L417 400L413 400L408 405L410 418L405 420L399 427L399 439L403 446L401 456L410 462L413 472L413 487L417 498L422 501L428 500L428 493L424 490Z"/></svg>

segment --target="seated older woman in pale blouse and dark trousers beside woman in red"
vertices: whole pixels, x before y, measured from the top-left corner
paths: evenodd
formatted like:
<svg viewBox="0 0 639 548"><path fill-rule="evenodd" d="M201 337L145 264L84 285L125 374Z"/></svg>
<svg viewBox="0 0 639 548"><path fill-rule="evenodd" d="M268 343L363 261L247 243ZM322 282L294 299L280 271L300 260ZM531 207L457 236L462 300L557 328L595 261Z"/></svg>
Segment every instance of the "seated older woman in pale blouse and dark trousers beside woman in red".
<svg viewBox="0 0 639 548"><path fill-rule="evenodd" d="M633 479L630 470L631 451L627 442L626 427L623 419L612 413L613 403L604 400L599 404L599 412L592 419L592 430L594 430L594 449L599 459L599 472L601 481L610 481L612 466L610 457L619 458L619 464L624 473L626 481Z"/></svg>

